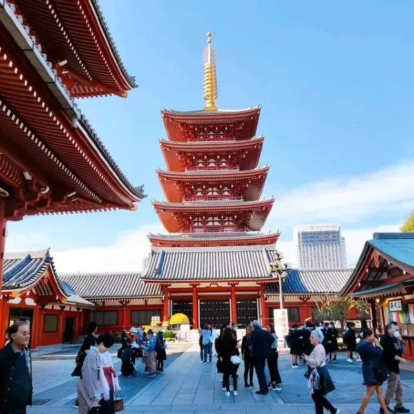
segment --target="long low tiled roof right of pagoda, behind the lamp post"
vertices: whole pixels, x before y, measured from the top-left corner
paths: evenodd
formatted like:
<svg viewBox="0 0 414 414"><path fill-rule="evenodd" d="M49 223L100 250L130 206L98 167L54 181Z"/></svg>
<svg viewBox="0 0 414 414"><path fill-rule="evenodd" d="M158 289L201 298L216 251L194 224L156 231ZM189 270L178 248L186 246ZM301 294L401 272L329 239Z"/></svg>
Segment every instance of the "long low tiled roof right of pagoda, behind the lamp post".
<svg viewBox="0 0 414 414"><path fill-rule="evenodd" d="M282 282L285 294L338 293L351 277L352 269L292 269ZM279 283L270 282L265 293L279 294Z"/></svg>

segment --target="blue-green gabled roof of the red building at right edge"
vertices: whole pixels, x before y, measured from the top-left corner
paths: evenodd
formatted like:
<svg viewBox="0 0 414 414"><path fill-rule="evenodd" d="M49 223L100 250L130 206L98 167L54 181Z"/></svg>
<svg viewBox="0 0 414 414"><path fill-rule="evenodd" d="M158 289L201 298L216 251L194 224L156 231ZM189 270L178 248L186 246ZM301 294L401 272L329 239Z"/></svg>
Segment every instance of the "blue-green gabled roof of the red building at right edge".
<svg viewBox="0 0 414 414"><path fill-rule="evenodd" d="M364 296L371 290L374 294L377 288L383 290L382 293L377 292L377 295L386 295L386 290L392 287L391 284L406 282L413 277L414 233L374 233L373 239L365 242L357 265L341 290L341 295Z"/></svg>

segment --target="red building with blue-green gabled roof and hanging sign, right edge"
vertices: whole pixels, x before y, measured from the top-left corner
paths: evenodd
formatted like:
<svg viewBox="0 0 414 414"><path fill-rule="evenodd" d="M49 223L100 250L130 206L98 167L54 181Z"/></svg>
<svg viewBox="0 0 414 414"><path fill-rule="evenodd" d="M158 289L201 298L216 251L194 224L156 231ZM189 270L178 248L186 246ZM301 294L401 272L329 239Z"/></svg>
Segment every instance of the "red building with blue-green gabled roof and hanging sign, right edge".
<svg viewBox="0 0 414 414"><path fill-rule="evenodd" d="M398 322L404 357L414 359L414 233L374 233L341 295L368 300L380 333L389 322Z"/></svg>

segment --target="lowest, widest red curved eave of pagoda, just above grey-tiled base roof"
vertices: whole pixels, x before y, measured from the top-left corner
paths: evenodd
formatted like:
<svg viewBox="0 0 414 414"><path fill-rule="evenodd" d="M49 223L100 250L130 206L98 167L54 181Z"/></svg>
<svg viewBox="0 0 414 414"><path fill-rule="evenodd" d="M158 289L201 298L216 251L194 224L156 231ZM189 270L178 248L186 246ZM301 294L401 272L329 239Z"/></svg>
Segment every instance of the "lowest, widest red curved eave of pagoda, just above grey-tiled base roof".
<svg viewBox="0 0 414 414"><path fill-rule="evenodd" d="M163 237L162 235L148 235L150 243L154 247L220 247L220 246L259 246L275 244L280 233L257 235L248 237L211 237L208 239Z"/></svg>

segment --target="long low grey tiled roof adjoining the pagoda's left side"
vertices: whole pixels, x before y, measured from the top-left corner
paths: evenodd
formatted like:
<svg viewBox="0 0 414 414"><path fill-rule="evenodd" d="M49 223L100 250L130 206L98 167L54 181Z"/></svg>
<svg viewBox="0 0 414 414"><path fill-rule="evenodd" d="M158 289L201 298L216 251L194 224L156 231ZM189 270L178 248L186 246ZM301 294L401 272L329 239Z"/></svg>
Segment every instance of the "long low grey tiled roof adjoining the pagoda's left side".
<svg viewBox="0 0 414 414"><path fill-rule="evenodd" d="M163 296L157 284L144 284L141 273L75 273L59 279L89 300Z"/></svg>

